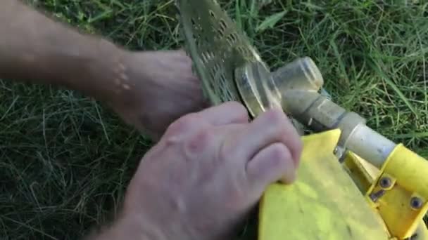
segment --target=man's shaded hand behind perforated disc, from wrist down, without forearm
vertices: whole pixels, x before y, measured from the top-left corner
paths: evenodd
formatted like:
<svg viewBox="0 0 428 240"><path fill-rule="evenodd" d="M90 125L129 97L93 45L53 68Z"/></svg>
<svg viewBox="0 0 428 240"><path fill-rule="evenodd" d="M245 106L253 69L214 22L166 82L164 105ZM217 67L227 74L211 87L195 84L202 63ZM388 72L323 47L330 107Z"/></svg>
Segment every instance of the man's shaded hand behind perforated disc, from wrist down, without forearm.
<svg viewBox="0 0 428 240"><path fill-rule="evenodd" d="M158 139L172 121L208 107L184 51L128 53L124 63L110 105L139 131Z"/></svg>

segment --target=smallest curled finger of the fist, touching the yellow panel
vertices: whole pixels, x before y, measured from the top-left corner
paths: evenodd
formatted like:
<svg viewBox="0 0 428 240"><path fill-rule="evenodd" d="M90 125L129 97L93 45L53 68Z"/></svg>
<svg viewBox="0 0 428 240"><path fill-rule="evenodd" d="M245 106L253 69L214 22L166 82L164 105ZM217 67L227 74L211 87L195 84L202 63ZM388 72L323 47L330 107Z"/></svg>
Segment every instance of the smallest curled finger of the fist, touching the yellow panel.
<svg viewBox="0 0 428 240"><path fill-rule="evenodd" d="M255 189L265 189L272 182L294 182L296 166L289 149L282 143L261 150L246 166L248 180Z"/></svg>

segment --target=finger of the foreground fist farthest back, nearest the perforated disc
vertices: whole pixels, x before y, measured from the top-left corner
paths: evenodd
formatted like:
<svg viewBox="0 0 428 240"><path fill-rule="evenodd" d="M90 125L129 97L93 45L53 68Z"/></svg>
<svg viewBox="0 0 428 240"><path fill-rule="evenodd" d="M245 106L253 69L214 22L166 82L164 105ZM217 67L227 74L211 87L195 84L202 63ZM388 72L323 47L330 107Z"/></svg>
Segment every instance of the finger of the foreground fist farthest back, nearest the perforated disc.
<svg viewBox="0 0 428 240"><path fill-rule="evenodd" d="M201 119L213 126L226 124L248 124L248 112L238 102L226 102L197 113Z"/></svg>

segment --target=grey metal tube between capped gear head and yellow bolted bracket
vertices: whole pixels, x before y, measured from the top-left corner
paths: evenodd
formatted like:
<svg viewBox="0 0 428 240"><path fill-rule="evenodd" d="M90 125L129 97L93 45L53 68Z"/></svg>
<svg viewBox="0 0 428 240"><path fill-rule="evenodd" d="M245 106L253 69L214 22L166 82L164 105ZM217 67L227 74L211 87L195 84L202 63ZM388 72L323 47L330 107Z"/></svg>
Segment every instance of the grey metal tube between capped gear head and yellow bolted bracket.
<svg viewBox="0 0 428 240"><path fill-rule="evenodd" d="M396 147L365 125L365 119L313 91L284 91L282 106L313 131L341 130L338 145L381 168Z"/></svg>

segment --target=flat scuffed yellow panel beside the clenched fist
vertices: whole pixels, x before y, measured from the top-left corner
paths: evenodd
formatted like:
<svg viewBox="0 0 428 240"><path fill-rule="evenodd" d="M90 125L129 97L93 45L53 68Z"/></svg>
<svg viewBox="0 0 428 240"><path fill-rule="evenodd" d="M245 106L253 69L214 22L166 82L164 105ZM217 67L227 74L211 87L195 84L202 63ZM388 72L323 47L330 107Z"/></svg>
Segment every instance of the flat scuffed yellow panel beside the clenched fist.
<svg viewBox="0 0 428 240"><path fill-rule="evenodd" d="M389 239L384 222L333 154L340 133L303 137L296 182L270 185L260 203L260 240Z"/></svg>

